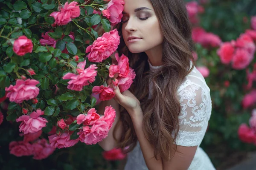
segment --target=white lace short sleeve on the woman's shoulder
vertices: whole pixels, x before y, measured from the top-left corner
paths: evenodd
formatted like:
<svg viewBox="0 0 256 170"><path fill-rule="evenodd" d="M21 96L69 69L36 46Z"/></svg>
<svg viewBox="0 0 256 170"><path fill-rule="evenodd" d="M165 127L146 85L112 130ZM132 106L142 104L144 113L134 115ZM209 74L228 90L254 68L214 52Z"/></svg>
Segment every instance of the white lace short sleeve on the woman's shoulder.
<svg viewBox="0 0 256 170"><path fill-rule="evenodd" d="M207 130L212 102L204 77L194 68L177 91L180 99L179 131L176 144L198 146Z"/></svg>

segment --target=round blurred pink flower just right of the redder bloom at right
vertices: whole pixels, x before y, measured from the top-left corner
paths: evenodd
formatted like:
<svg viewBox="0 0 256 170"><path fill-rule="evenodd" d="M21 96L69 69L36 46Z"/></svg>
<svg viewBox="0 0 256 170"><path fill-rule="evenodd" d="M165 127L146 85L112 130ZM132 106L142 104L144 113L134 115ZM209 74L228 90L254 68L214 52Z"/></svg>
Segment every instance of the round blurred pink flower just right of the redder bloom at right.
<svg viewBox="0 0 256 170"><path fill-rule="evenodd" d="M232 60L232 68L236 70L241 70L246 68L252 61L251 55L247 50L242 48L237 48Z"/></svg>

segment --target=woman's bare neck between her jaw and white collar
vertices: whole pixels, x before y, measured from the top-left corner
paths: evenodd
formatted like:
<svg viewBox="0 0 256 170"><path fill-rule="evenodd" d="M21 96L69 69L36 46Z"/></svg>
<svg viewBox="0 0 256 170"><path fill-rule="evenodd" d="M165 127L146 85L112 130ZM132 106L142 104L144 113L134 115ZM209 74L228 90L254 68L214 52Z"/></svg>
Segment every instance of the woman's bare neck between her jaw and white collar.
<svg viewBox="0 0 256 170"><path fill-rule="evenodd" d="M145 53L147 54L148 59L152 66L163 65L163 62L162 62L163 46L162 46L162 44L158 45L154 48L151 48L148 51L145 51Z"/></svg>

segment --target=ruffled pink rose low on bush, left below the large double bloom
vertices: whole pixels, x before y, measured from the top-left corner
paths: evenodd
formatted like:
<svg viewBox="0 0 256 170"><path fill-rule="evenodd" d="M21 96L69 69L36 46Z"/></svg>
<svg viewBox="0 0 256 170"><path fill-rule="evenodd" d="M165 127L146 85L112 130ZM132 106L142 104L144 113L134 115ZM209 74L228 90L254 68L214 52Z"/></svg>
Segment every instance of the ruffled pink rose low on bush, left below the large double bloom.
<svg viewBox="0 0 256 170"><path fill-rule="evenodd" d="M48 136L51 147L61 149L64 147L74 146L77 142L79 142L79 139L71 140L70 139L71 134L72 133L64 132L59 136L57 136L56 134Z"/></svg>

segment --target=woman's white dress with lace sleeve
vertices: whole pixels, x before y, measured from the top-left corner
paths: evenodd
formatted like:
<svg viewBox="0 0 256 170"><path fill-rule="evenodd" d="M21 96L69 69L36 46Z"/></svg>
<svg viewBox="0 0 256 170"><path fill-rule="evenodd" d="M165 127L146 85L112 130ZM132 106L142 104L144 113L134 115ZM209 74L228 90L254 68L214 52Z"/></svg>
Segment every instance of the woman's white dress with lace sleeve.
<svg viewBox="0 0 256 170"><path fill-rule="evenodd" d="M152 66L150 62L148 63L151 71L161 67ZM176 138L176 144L186 147L198 146L188 170L215 170L207 154L199 147L211 116L212 101L210 89L204 77L195 67L184 79L178 88L177 94L180 99L181 112L178 117L180 130ZM134 150L128 153L125 170L148 170L139 142L137 142Z"/></svg>

